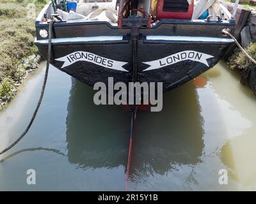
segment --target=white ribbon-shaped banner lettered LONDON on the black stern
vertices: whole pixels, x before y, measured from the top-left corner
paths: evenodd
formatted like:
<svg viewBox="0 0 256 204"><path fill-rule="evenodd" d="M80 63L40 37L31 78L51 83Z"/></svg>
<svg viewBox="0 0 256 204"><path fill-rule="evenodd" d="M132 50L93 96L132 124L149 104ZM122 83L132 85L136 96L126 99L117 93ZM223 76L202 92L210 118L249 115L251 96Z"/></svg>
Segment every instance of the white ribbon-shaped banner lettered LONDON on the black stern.
<svg viewBox="0 0 256 204"><path fill-rule="evenodd" d="M182 52L177 52L176 54L169 55L168 57L164 57L162 59L157 59L150 62L143 62L144 64L150 65L147 69L143 71L148 71L152 69L163 68L164 66L169 66L171 64L175 64L180 61L191 60L196 62L204 63L206 66L209 66L207 59L214 57L212 55L208 55L202 52L196 52L193 50L186 50Z"/></svg>

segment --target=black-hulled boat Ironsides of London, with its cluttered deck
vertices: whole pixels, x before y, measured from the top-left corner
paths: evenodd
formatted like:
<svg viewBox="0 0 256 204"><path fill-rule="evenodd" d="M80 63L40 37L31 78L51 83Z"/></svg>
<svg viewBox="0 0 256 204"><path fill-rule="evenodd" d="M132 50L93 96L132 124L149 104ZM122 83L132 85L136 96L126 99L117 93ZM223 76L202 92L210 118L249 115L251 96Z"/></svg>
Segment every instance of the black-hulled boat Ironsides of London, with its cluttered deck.
<svg viewBox="0 0 256 204"><path fill-rule="evenodd" d="M218 0L49 2L36 18L35 45L81 82L163 82L163 91L212 68L234 44L236 20Z"/></svg>

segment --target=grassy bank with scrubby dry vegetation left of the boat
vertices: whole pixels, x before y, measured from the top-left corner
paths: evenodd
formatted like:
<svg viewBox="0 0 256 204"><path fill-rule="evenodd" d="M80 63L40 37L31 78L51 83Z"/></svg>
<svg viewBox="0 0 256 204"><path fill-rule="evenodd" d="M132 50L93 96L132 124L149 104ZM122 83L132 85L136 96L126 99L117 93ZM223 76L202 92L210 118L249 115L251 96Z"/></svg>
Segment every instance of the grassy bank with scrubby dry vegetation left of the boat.
<svg viewBox="0 0 256 204"><path fill-rule="evenodd" d="M40 61L33 45L35 18L28 17L33 6L29 3L35 4L38 14L47 0L0 0L0 109Z"/></svg>

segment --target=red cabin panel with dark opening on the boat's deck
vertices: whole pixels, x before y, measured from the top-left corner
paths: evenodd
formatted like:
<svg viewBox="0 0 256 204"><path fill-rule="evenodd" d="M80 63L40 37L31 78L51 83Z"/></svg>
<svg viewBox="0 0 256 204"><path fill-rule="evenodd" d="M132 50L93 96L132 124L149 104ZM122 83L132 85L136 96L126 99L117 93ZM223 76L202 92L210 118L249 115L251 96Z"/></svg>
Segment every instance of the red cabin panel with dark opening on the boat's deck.
<svg viewBox="0 0 256 204"><path fill-rule="evenodd" d="M194 0L158 0L156 18L191 19L194 10Z"/></svg>

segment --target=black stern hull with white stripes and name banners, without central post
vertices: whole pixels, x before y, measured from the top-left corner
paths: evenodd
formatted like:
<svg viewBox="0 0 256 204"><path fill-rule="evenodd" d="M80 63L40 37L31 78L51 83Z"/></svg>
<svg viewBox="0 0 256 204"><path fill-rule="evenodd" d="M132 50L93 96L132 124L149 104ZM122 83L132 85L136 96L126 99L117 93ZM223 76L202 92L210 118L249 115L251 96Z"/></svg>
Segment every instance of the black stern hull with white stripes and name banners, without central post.
<svg viewBox="0 0 256 204"><path fill-rule="evenodd" d="M39 33L47 30L47 25L36 24L36 28ZM163 91L168 91L204 73L234 43L221 35L225 28L233 31L234 22L161 22L152 29L139 29L137 81L163 82ZM53 30L53 66L91 86L108 84L108 77L113 77L114 83L131 82L131 29L116 29L107 23L97 27L61 22L54 24ZM38 34L35 43L46 57L47 39Z"/></svg>

